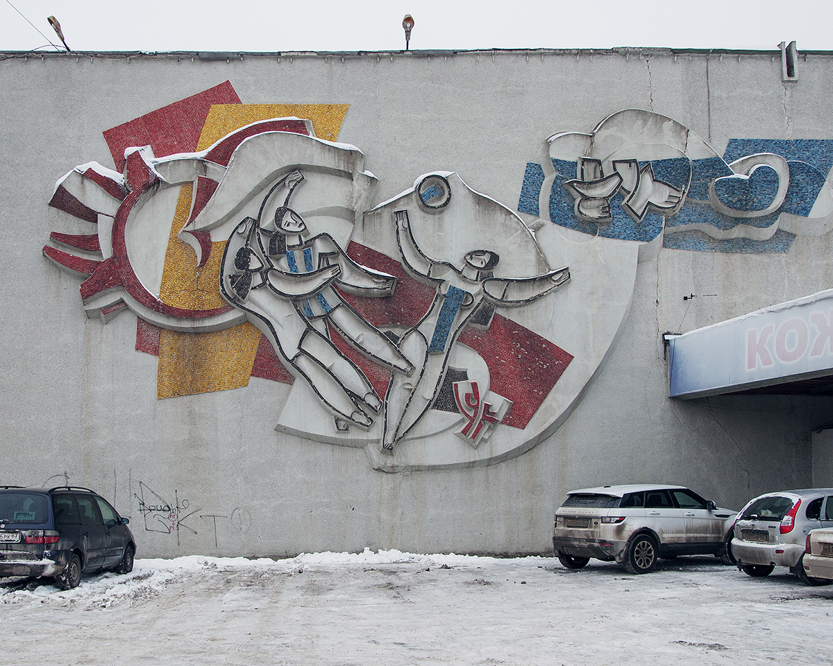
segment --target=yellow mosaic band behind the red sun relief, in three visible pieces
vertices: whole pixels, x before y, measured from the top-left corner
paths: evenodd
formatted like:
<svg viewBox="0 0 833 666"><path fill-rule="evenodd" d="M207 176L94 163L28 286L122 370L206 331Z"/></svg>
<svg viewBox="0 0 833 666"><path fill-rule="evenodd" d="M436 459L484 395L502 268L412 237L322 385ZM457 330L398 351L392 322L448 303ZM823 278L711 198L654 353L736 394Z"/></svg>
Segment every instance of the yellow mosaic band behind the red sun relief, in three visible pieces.
<svg viewBox="0 0 833 666"><path fill-rule="evenodd" d="M286 116L310 120L317 137L336 141L348 107L348 104L215 104L202 127L197 150L204 150L229 132L252 122ZM194 251L177 238L187 221L191 200L192 186L182 186L168 237L160 298L171 306L210 310L226 305L220 295L220 264L225 243L213 243L205 266L197 269ZM261 332L248 322L212 333L162 329L157 399L248 385L260 338Z"/></svg>

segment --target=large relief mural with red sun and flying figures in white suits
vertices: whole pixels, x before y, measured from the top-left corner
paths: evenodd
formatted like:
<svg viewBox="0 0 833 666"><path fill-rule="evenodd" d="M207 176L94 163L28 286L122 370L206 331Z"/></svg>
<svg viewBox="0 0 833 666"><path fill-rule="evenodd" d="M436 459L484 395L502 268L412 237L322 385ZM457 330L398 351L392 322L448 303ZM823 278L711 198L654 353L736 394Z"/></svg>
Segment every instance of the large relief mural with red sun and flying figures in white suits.
<svg viewBox="0 0 833 666"><path fill-rule="evenodd" d="M50 201L97 232L43 253L85 278L87 316L137 315L159 398L283 382L278 430L380 470L522 453L601 362L586 352L554 390L581 349L551 319L592 284L454 172L368 210L375 176L332 142L346 112L244 105L226 82L107 130L116 168L76 167Z"/></svg>

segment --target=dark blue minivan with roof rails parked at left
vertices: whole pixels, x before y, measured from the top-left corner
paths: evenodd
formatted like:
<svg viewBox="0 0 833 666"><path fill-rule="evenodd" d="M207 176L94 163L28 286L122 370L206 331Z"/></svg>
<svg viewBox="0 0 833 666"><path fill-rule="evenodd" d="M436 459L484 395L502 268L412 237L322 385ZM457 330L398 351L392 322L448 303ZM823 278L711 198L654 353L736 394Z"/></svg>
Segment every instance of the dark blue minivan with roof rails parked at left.
<svg viewBox="0 0 833 666"><path fill-rule="evenodd" d="M87 488L0 486L0 577L52 576L61 589L81 574L133 569L129 520Z"/></svg>

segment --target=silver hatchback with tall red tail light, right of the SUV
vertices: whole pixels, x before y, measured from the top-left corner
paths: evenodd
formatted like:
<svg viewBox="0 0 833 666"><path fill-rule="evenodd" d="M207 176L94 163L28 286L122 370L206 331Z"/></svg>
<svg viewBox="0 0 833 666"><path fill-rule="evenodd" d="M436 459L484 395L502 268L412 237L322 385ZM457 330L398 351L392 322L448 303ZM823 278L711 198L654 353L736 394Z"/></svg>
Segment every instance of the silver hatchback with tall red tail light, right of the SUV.
<svg viewBox="0 0 833 666"><path fill-rule="evenodd" d="M802 562L807 534L821 527L833 527L833 488L782 490L752 499L738 516L731 542L738 569L768 576L776 566L789 567L806 584L829 584L808 576Z"/></svg>

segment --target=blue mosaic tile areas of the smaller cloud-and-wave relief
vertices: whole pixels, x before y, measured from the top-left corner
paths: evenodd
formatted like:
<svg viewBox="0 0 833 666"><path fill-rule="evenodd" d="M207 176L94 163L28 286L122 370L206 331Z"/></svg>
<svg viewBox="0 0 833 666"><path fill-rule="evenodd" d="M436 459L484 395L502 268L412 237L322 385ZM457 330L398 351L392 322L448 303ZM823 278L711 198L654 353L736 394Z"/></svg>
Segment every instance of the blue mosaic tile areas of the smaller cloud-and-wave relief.
<svg viewBox="0 0 833 666"><path fill-rule="evenodd" d="M715 194L728 208L736 211L764 211L775 200L778 191L776 171L761 165L748 178L732 178L734 172L728 166L741 157L771 152L781 155L790 169L790 186L786 199L780 208L766 216L731 217L712 208L709 189L715 183ZM640 162L644 167L646 162ZM671 160L655 160L651 169L657 181L666 182L680 191L687 191L686 201L680 211L663 217L649 210L644 219L636 221L628 215L621 204L626 193L616 191L610 198L612 221L586 221L575 215L576 200L564 187L564 182L575 180L578 171L576 162L552 160L556 171L549 191L548 213L550 220L568 229L581 231L591 236L621 238L629 241L650 241L662 230L663 224L674 233L666 233L664 246L670 249L712 252L786 252L795 236L787 231L776 230L773 236L756 241L749 238L720 240L696 229L682 231L680 227L697 225L712 226L717 230L729 231L738 225L768 227L776 223L781 212L796 216L809 216L826 176L833 167L833 141L827 139L732 139L726 147L724 158L710 157L690 161L686 157ZM521 185L518 211L540 216L541 189L546 181L543 168L536 162L526 165ZM680 231L677 231L680 230Z"/></svg>

